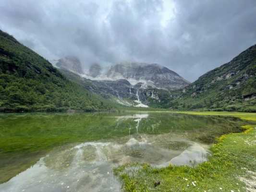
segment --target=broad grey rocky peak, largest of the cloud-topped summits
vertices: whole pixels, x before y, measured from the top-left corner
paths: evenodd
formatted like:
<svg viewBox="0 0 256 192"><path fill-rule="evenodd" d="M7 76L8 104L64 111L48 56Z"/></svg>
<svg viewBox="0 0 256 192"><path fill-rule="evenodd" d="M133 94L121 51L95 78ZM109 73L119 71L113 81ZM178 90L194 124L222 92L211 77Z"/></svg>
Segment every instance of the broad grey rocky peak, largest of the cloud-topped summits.
<svg viewBox="0 0 256 192"><path fill-rule="evenodd" d="M119 63L111 66L106 75L111 79L126 79L133 85L142 83L142 88L178 89L189 84L176 72L159 64Z"/></svg>

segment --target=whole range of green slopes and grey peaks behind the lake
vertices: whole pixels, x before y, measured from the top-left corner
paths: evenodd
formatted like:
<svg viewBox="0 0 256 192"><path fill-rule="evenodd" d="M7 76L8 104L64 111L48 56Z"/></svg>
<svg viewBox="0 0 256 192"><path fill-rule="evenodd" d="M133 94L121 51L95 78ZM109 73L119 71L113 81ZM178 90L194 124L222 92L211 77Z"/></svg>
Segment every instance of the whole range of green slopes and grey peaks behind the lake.
<svg viewBox="0 0 256 192"><path fill-rule="evenodd" d="M91 70L95 78L73 73L83 70L80 61L75 59L75 63L81 68L54 68L0 30L0 111L94 111L122 104L172 110L256 112L256 45L201 75L192 84L155 63L130 62L128 67L119 63L106 72L106 79L101 79L98 64ZM170 75L174 75L173 79ZM160 83L168 84L168 89L156 86L159 78L167 78L167 82ZM174 83L183 81L170 88L170 79Z"/></svg>

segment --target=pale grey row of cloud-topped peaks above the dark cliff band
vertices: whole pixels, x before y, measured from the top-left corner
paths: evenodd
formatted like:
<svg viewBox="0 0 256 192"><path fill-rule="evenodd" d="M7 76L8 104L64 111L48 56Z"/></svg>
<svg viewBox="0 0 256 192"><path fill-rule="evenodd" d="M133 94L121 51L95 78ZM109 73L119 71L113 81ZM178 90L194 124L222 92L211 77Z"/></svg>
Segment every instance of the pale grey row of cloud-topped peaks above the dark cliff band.
<svg viewBox="0 0 256 192"><path fill-rule="evenodd" d="M69 60L70 62L60 62L61 60L65 60L65 58L59 60L56 64L57 67L75 72L91 80L116 81L126 79L132 85L144 84L141 88L151 86L158 89L179 89L190 84L178 73L157 63L126 61L110 65L105 72L103 72L100 64L94 63L87 72L82 73L82 70L73 70L73 66L77 66L77 62L72 62L72 60ZM80 61L79 65L81 66Z"/></svg>

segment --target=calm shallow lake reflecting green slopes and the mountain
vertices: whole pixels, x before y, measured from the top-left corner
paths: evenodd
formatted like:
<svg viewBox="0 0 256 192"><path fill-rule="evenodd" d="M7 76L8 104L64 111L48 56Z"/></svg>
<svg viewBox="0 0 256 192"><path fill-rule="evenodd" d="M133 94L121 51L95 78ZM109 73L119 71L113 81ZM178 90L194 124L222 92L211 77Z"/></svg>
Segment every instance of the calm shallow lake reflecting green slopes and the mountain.
<svg viewBox="0 0 256 192"><path fill-rule="evenodd" d="M0 114L0 192L120 192L113 168L195 166L244 124L170 112Z"/></svg>

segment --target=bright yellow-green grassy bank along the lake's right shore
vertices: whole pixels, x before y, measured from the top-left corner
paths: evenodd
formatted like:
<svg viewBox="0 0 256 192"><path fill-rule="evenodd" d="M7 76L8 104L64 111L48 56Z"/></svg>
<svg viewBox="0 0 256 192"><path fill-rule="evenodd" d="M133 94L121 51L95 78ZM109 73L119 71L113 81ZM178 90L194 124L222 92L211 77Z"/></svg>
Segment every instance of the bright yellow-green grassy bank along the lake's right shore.
<svg viewBox="0 0 256 192"><path fill-rule="evenodd" d="M256 121L255 113L177 112L192 115L232 116ZM211 147L212 156L195 168L153 168L147 164L124 165L115 174L127 192L254 192L256 186L256 122L243 133L223 135ZM160 184L155 186L155 182Z"/></svg>

